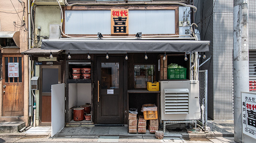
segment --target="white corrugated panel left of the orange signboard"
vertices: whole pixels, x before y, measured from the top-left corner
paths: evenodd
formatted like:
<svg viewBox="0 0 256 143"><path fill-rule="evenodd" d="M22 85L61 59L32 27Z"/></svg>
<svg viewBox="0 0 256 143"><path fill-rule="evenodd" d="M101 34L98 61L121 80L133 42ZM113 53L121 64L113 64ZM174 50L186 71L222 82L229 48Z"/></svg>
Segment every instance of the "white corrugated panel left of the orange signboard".
<svg viewBox="0 0 256 143"><path fill-rule="evenodd" d="M110 10L65 10L65 34L110 34Z"/></svg>

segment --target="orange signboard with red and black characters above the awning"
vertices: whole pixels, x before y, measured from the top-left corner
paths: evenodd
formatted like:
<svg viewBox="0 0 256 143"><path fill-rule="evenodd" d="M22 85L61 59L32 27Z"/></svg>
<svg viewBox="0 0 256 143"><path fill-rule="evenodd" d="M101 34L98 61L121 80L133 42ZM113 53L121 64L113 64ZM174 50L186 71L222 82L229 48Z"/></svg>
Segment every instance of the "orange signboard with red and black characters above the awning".
<svg viewBox="0 0 256 143"><path fill-rule="evenodd" d="M128 9L111 10L111 34L128 34Z"/></svg>

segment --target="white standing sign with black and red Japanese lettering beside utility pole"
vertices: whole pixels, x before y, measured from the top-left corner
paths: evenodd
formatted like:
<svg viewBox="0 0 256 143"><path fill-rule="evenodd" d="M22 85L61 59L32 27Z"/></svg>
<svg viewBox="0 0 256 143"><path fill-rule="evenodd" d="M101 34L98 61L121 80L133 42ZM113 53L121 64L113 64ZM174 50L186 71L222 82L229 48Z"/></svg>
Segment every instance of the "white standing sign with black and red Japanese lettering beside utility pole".
<svg viewBox="0 0 256 143"><path fill-rule="evenodd" d="M256 139L256 95L242 92L243 133Z"/></svg>

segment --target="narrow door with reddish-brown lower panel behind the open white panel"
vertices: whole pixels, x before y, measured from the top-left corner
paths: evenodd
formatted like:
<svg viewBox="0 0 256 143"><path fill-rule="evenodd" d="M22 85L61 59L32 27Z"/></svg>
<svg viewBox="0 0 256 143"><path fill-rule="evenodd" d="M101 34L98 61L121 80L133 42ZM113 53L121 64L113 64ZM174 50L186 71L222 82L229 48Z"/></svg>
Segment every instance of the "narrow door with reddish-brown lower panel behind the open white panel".
<svg viewBox="0 0 256 143"><path fill-rule="evenodd" d="M61 82L60 66L40 66L40 125L52 122L52 85Z"/></svg>

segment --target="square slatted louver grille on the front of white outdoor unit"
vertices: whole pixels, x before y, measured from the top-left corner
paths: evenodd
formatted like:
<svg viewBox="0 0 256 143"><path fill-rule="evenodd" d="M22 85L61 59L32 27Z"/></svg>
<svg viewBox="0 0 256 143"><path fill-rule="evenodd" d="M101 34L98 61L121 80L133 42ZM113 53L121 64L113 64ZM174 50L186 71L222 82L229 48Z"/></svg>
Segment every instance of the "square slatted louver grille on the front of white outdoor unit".
<svg viewBox="0 0 256 143"><path fill-rule="evenodd" d="M189 89L164 89L165 114L189 114Z"/></svg>

